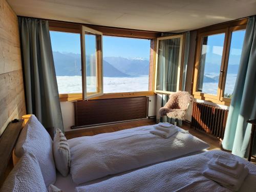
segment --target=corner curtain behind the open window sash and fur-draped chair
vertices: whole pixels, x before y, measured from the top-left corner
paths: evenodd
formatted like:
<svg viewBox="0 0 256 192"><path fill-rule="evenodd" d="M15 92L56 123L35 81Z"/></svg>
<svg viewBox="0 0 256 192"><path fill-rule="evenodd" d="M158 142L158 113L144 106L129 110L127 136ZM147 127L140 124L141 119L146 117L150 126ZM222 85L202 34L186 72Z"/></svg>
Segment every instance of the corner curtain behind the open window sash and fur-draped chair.
<svg viewBox="0 0 256 192"><path fill-rule="evenodd" d="M184 62L182 73L182 91L185 89L186 81L186 69L189 52L189 40L190 34L185 34L185 47L184 47ZM179 64L179 49L180 39L165 39L159 41L158 51L158 71L157 71L157 90L176 92L178 81L178 64ZM174 123L175 119L168 118L167 116L161 117L159 115L159 109L166 104L169 99L169 95L157 94L157 122L169 122ZM177 122L179 126L182 125L182 121Z"/></svg>

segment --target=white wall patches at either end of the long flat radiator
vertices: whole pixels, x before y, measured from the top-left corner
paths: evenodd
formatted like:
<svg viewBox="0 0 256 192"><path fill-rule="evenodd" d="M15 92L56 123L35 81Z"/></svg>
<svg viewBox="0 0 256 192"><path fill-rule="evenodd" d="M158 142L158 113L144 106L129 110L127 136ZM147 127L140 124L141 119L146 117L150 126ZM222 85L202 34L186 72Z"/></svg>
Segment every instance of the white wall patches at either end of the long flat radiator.
<svg viewBox="0 0 256 192"><path fill-rule="evenodd" d="M148 116L156 115L156 96L148 96ZM74 103L65 101L60 102L63 125L65 131L71 131L70 127L75 124Z"/></svg>

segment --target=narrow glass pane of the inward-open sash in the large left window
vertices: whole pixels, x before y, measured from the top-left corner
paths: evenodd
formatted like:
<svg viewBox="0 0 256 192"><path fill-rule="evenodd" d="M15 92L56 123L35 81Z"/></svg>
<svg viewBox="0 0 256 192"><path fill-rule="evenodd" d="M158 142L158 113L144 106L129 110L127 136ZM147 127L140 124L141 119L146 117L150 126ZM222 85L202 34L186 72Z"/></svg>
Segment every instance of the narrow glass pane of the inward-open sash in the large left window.
<svg viewBox="0 0 256 192"><path fill-rule="evenodd" d="M86 48L86 88L87 93L97 92L97 56L96 56L96 35L84 35Z"/></svg>

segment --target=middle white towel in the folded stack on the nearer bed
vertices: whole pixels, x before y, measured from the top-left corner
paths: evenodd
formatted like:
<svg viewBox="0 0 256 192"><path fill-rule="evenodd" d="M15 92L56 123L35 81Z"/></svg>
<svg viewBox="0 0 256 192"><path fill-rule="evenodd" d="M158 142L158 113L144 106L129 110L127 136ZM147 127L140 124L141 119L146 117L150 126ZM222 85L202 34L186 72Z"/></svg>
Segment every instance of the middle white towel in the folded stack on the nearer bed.
<svg viewBox="0 0 256 192"><path fill-rule="evenodd" d="M211 159L208 162L208 166L211 169L215 169L218 172L222 172L222 173L230 175L231 177L234 177L234 178L239 178L244 170L244 164L238 164L236 169L230 169L230 168L227 168L227 167L217 164L216 158Z"/></svg>

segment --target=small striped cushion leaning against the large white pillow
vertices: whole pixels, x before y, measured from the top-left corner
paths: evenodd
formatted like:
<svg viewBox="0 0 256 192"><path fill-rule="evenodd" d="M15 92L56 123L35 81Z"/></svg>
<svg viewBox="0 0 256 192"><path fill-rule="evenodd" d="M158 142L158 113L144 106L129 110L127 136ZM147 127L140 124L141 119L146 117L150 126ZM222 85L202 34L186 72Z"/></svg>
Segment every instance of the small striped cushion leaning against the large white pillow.
<svg viewBox="0 0 256 192"><path fill-rule="evenodd" d="M53 139L53 156L56 168L63 177L67 177L70 169L70 150L67 138L59 129Z"/></svg>

